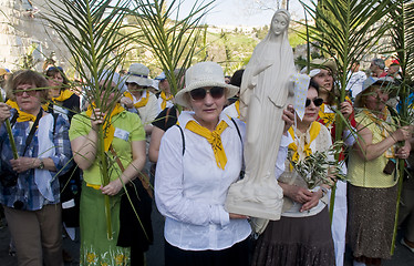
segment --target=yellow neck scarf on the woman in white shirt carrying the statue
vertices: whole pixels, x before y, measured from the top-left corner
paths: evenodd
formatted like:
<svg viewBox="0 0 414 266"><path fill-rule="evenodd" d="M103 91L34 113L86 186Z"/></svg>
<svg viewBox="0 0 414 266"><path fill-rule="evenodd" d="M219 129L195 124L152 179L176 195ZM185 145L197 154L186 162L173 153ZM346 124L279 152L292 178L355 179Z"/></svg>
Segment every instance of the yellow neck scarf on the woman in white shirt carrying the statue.
<svg viewBox="0 0 414 266"><path fill-rule="evenodd" d="M186 129L189 131L204 136L207 139L208 143L211 144L211 149L214 152L214 155L216 157L217 166L221 170L225 170L227 164L227 156L225 149L222 147L221 143L221 133L227 129L228 124L225 121L221 121L217 126L215 131L209 131L206 127L199 125L194 120L189 121L186 125Z"/></svg>

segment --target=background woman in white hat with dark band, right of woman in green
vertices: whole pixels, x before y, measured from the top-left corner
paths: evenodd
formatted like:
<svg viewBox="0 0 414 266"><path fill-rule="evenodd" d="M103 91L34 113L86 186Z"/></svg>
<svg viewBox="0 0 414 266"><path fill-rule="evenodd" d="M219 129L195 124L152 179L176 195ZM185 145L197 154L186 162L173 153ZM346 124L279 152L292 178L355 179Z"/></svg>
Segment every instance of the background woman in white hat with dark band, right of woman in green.
<svg viewBox="0 0 414 266"><path fill-rule="evenodd" d="M151 135L153 129L151 122L157 116L158 108L157 98L148 90L153 85L149 69L141 63L131 64L125 83L128 90L121 99L121 103L130 112L139 114L145 133Z"/></svg>

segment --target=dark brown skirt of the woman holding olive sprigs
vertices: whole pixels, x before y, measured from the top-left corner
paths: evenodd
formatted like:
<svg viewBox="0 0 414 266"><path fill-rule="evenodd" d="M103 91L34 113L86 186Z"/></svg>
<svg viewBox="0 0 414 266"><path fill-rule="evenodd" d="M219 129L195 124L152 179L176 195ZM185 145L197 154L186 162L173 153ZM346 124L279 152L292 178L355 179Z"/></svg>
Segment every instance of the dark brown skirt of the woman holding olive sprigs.
<svg viewBox="0 0 414 266"><path fill-rule="evenodd" d="M328 207L313 216L270 222L257 241L252 265L334 266Z"/></svg>

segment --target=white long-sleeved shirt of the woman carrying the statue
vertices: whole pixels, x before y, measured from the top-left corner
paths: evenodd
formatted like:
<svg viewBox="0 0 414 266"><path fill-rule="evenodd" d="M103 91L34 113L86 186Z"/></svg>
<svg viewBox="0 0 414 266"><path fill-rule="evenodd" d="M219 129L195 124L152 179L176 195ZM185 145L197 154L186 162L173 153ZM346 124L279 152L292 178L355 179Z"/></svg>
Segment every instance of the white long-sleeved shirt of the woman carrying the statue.
<svg viewBox="0 0 414 266"><path fill-rule="evenodd" d="M225 201L229 186L239 178L242 162L242 142L235 124L226 114L220 115L228 127L221 133L227 164L216 164L207 140L185 129L194 120L193 112L183 112L177 126L170 127L162 139L155 175L155 201L166 217L165 239L187 250L220 250L246 239L250 235L247 219L229 219ZM237 121L241 136L245 124Z"/></svg>

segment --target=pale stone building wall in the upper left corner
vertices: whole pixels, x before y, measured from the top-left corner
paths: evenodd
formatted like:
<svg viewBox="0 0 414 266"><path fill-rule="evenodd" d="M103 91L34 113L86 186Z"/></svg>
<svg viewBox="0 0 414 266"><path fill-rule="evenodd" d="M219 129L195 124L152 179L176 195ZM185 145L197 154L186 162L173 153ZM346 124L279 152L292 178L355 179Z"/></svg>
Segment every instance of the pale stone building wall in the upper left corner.
<svg viewBox="0 0 414 266"><path fill-rule="evenodd" d="M69 66L70 53L41 19L48 0L0 0L0 66L42 71L46 59Z"/></svg>

